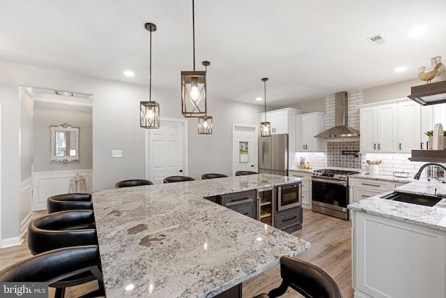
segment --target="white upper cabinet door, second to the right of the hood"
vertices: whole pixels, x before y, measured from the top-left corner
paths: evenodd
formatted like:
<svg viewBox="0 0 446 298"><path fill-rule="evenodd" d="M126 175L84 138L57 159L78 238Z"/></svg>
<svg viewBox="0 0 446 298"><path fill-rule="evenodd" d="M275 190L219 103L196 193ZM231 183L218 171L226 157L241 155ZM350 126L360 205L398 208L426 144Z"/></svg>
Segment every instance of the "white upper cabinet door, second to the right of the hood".
<svg viewBox="0 0 446 298"><path fill-rule="evenodd" d="M397 104L378 106L378 152L398 151Z"/></svg>

